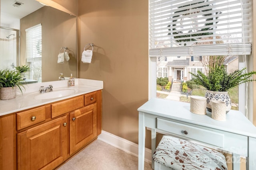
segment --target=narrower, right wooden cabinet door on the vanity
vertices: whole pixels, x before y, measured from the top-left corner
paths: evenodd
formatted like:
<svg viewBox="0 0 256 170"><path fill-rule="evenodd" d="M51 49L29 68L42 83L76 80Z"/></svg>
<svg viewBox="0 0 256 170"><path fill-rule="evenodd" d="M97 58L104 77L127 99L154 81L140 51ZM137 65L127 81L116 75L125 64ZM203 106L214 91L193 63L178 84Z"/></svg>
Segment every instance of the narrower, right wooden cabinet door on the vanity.
<svg viewBox="0 0 256 170"><path fill-rule="evenodd" d="M70 154L97 137L97 104L70 113Z"/></svg>

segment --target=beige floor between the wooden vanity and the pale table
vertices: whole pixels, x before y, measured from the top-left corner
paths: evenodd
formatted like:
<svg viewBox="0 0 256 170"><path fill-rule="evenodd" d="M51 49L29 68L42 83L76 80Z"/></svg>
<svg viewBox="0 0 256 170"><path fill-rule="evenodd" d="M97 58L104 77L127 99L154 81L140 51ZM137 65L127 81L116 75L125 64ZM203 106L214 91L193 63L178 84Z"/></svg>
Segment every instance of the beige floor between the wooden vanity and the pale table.
<svg viewBox="0 0 256 170"><path fill-rule="evenodd" d="M138 158L96 140L58 170L138 170ZM144 170L152 170L151 164L145 162Z"/></svg>

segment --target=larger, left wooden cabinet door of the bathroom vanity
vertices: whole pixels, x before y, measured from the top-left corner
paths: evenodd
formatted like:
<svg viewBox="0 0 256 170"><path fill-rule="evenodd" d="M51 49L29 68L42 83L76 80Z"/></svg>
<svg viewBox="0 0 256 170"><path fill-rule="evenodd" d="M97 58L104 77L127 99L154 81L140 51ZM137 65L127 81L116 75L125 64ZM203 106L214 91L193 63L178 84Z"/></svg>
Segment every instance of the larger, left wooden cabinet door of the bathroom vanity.
<svg viewBox="0 0 256 170"><path fill-rule="evenodd" d="M18 170L51 170L68 156L68 116L17 134Z"/></svg>

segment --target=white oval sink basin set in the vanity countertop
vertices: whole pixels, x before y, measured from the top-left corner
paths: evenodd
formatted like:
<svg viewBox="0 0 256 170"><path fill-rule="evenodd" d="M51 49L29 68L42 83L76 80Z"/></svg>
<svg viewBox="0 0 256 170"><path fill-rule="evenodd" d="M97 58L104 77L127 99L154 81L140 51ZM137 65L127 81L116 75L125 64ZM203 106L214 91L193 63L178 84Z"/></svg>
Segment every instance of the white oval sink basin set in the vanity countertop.
<svg viewBox="0 0 256 170"><path fill-rule="evenodd" d="M76 92L75 89L70 89L70 88L64 88L64 89L56 89L52 92L46 92L46 93L34 93L34 94L30 94L34 96L34 99L38 99L38 100L44 100L44 99L52 99L52 98L61 98L64 96L68 96L70 94L74 94Z"/></svg>

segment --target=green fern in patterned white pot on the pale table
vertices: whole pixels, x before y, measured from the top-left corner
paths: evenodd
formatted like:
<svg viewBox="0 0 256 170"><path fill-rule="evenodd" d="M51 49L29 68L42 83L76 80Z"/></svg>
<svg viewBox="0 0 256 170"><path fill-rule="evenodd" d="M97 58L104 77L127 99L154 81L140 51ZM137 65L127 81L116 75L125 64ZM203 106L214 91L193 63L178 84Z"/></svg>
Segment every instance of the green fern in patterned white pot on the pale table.
<svg viewBox="0 0 256 170"><path fill-rule="evenodd" d="M228 73L224 65L209 66L209 71L204 74L198 70L197 74L190 72L194 76L192 80L206 88L206 107L208 111L212 111L211 100L221 100L226 103L226 113L230 111L232 103L228 96L228 90L245 82L255 81L252 76L255 71L245 72L246 68L235 70Z"/></svg>

